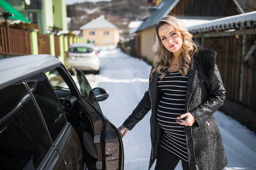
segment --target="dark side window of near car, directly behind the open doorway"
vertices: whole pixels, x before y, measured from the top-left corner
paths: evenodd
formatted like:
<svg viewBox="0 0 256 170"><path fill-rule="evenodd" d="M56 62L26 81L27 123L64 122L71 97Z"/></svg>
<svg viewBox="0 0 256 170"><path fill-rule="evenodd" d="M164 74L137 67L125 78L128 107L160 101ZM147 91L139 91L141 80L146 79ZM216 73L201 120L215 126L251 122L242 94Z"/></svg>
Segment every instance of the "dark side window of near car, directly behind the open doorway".
<svg viewBox="0 0 256 170"><path fill-rule="evenodd" d="M36 99L36 103L43 115L52 142L54 142L66 123L56 93L44 73L30 77L26 79L26 82L29 84L29 88Z"/></svg>

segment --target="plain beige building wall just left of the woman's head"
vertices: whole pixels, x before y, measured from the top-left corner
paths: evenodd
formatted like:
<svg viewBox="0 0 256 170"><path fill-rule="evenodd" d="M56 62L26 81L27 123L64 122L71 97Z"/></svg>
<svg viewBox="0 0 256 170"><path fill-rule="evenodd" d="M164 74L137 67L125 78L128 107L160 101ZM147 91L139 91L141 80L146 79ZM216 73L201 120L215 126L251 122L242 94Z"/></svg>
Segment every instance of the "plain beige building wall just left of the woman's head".
<svg viewBox="0 0 256 170"><path fill-rule="evenodd" d="M141 57L146 58L148 62L153 63L155 54L152 51L152 46L155 41L155 28L150 27L140 32L140 46L141 46Z"/></svg>

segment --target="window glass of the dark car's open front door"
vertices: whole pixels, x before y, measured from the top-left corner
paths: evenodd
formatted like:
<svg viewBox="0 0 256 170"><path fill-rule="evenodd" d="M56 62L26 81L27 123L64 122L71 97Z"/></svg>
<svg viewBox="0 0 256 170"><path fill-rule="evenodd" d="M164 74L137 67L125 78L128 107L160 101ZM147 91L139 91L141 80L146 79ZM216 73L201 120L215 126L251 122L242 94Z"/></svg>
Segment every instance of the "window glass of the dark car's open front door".
<svg viewBox="0 0 256 170"><path fill-rule="evenodd" d="M77 81L79 83L79 90L81 95L88 101L90 102L90 104L92 106L94 106L94 108L103 116L102 112L101 112L101 108L99 106L99 103L92 91L92 88L89 84L89 82L87 81L87 79L85 78L85 75L83 74L82 71L78 70L75 68L76 71L76 78Z"/></svg>

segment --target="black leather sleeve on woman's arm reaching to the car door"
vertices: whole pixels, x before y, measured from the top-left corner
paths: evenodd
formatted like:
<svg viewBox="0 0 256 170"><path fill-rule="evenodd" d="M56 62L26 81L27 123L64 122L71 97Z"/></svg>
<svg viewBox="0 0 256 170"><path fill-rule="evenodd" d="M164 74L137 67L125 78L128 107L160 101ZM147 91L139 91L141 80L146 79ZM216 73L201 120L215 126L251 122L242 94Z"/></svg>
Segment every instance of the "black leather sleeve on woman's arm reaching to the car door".
<svg viewBox="0 0 256 170"><path fill-rule="evenodd" d="M132 114L124 121L123 125L132 130L134 126L148 113L151 109L151 100L149 92L146 91L137 107L132 111Z"/></svg>

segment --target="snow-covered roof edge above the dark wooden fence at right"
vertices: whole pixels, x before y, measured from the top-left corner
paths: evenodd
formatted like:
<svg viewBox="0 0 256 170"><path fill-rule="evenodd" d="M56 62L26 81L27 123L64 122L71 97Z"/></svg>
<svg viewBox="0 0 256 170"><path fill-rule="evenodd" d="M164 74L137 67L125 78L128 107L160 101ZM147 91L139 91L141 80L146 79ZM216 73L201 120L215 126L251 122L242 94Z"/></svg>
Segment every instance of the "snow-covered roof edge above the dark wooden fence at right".
<svg viewBox="0 0 256 170"><path fill-rule="evenodd" d="M206 24L198 24L189 26L188 30L191 33L203 33L214 30L239 29L240 27L255 27L256 26L256 11L232 15L216 20L211 20Z"/></svg>

